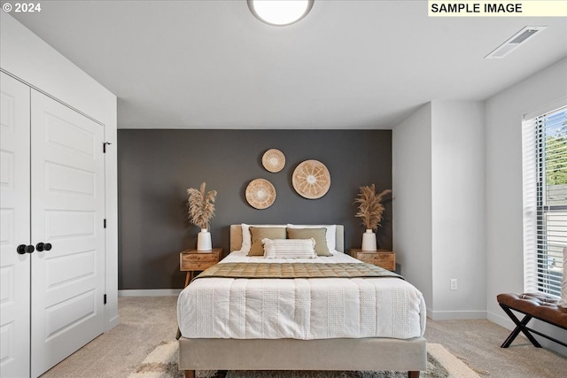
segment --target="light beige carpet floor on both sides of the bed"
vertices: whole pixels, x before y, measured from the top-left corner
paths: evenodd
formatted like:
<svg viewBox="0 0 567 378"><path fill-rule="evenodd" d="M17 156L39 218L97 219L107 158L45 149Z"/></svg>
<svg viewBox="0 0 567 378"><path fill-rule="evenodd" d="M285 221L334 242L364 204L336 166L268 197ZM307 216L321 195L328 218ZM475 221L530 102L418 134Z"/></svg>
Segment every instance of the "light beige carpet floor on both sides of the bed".
<svg viewBox="0 0 567 378"><path fill-rule="evenodd" d="M161 343L175 341L177 297L120 297L120 325L98 336L42 378L120 378L136 371ZM509 330L488 320L427 321L425 338L440 343L482 378L565 376L567 358L534 348L518 336L508 349Z"/></svg>

